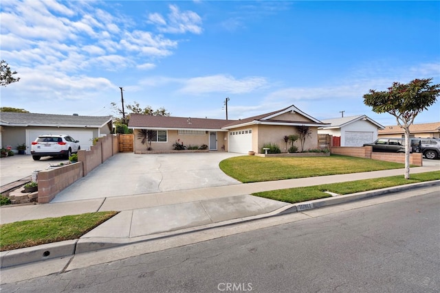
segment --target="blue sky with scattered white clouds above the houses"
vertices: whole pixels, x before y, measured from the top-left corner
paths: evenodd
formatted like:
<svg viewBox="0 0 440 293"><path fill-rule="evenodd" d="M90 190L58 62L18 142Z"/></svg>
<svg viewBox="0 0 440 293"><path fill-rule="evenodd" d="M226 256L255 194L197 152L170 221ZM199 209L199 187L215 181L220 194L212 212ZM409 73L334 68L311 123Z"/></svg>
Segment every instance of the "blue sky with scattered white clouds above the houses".
<svg viewBox="0 0 440 293"><path fill-rule="evenodd" d="M439 1L2 0L0 58L21 80L1 106L116 115L111 102L229 119L294 104L368 115L369 89L440 83ZM415 123L440 121L440 102Z"/></svg>

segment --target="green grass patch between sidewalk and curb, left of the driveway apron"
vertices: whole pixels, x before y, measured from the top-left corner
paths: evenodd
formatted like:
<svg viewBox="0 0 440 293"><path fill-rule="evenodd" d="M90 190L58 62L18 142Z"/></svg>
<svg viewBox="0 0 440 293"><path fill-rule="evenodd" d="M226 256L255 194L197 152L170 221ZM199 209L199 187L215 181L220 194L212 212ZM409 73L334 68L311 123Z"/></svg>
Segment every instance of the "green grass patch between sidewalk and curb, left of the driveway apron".
<svg viewBox="0 0 440 293"><path fill-rule="evenodd" d="M116 215L116 211L65 215L0 225L0 251L78 239Z"/></svg>

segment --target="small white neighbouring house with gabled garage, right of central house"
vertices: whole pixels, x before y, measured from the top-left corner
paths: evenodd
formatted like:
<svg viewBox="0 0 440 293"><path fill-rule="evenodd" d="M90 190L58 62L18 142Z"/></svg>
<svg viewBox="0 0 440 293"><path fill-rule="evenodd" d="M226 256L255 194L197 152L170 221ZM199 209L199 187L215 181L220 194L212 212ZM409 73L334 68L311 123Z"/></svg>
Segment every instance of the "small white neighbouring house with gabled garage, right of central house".
<svg viewBox="0 0 440 293"><path fill-rule="evenodd" d="M340 137L340 146L358 147L364 143L372 143L377 139L377 130L384 129L384 126L366 115L321 121L330 125L318 128L318 134L331 134L333 137Z"/></svg>

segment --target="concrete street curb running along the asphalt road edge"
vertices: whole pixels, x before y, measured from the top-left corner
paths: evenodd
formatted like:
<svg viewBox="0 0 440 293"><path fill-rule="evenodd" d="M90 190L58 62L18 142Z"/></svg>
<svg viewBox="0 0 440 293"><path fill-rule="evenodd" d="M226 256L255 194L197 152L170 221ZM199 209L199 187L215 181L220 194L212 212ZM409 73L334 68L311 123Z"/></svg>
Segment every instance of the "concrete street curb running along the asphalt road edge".
<svg viewBox="0 0 440 293"><path fill-rule="evenodd" d="M246 218L237 218L233 220L211 223L202 226L183 228L175 231L166 231L153 235L145 235L145 236L133 237L133 238L102 238L102 237L80 238L75 240L67 240L63 242L54 242L52 244L43 244L40 246L20 248L16 250L2 251L0 253L0 268L19 266L25 263L44 261L47 259L54 259L58 257L67 257L70 255L88 253L91 251L102 250L105 248L124 246L127 244L138 244L141 242L148 242L154 239L173 237L177 235L184 235L198 231L206 231L212 228L231 226L234 224L251 222L254 220L261 220L264 218L271 218L278 215L285 215L288 213L302 212L308 209L318 209L320 207L328 207L335 204L353 202L356 200L372 198L375 196L392 194L399 191L407 191L410 189L433 187L433 186L440 186L440 180L428 181L424 183L412 183L408 185L400 185L397 187L376 189L373 191L362 191L356 194L347 194L344 196L334 196L331 198L321 198L318 200L310 200L307 202L288 204L285 207L281 207L280 209L276 209L275 211L272 211L270 213L253 215Z"/></svg>

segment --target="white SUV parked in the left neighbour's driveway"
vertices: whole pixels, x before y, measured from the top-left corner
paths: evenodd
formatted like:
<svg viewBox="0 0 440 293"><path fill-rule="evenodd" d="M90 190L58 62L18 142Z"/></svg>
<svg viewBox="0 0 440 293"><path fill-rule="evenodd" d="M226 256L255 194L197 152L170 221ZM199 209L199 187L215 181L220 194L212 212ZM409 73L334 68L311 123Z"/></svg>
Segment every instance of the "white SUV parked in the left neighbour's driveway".
<svg viewBox="0 0 440 293"><path fill-rule="evenodd" d="M32 142L30 153L32 159L38 161L42 156L64 156L69 159L72 153L80 150L79 141L66 134L39 135Z"/></svg>

